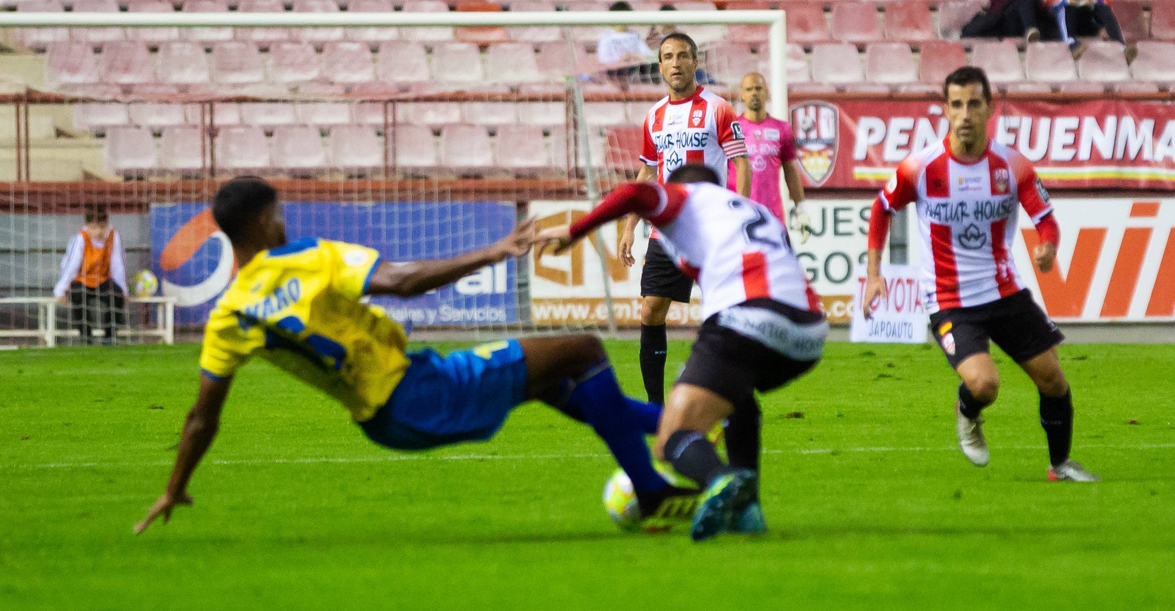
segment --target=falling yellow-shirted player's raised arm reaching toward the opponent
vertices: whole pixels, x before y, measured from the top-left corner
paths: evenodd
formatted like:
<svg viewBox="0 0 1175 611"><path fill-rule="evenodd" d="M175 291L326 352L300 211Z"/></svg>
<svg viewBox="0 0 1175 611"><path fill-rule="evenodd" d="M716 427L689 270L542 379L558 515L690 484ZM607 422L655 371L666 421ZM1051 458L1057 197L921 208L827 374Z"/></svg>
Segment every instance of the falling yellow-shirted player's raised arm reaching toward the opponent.
<svg viewBox="0 0 1175 611"><path fill-rule="evenodd" d="M535 241L535 220L515 227L510 235L485 248L452 258L414 261L411 263L382 263L371 275L368 295L412 297L458 280L499 261L525 255Z"/></svg>

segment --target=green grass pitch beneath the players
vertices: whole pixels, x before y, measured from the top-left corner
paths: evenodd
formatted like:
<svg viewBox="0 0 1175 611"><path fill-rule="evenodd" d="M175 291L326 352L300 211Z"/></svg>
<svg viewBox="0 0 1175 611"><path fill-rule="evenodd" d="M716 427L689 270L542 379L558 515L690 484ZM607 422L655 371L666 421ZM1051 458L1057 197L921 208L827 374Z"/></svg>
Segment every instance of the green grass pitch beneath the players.
<svg viewBox="0 0 1175 611"><path fill-rule="evenodd" d="M636 343L609 351L642 395ZM693 544L619 532L600 504L612 459L552 410L395 454L261 362L195 506L135 537L197 347L0 352L0 609L1173 609L1175 345L1061 355L1074 458L1103 482L1045 481L1036 395L1006 357L975 469L936 348L830 344L764 401L770 535Z"/></svg>

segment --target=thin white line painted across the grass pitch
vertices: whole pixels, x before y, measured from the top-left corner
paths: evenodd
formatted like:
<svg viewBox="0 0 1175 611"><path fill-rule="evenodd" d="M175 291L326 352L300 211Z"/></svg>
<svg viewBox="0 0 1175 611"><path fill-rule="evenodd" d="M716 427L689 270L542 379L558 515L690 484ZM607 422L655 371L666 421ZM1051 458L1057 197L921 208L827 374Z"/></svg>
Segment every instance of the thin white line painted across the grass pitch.
<svg viewBox="0 0 1175 611"><path fill-rule="evenodd" d="M1043 450L1046 445L1003 445L994 446L996 450ZM1081 444L1080 448L1097 448L1106 450L1159 450L1175 448L1175 443L1139 443L1139 444ZM791 450L764 450L763 454L783 455L824 455L824 454L848 454L848 452L946 452L958 451L951 446L872 446L872 448L804 448ZM206 461L212 464L222 465L249 465L249 464L345 464L345 463L396 463L404 461L550 461L556 458L609 458L609 454L462 454L450 456L436 456L429 454L389 454L385 456L364 456L354 458L239 458L239 459L215 459ZM120 468L120 466L170 466L173 461L150 461L137 463L42 463L42 464L5 464L0 469L82 469L82 468Z"/></svg>

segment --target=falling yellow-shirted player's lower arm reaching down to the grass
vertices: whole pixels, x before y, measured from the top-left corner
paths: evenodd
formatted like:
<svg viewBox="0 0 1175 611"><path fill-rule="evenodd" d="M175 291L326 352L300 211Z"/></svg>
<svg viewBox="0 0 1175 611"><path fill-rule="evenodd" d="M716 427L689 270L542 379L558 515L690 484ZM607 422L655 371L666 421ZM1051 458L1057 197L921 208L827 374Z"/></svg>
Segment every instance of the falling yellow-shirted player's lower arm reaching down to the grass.
<svg viewBox="0 0 1175 611"><path fill-rule="evenodd" d="M175 468L172 469L172 478L167 482L167 490L159 501L152 505L150 511L142 522L135 524L135 535L147 530L155 518L163 518L166 524L172 518L172 510L176 505L190 505L192 496L188 495L188 479L192 472L200 464L200 458L208 451L208 446L216 438L216 430L220 428L221 408L224 407L224 398L228 397L229 385L233 378L213 378L207 375L200 377L200 394L196 396L196 404L188 411L188 418L183 422L183 437L180 439L180 451L175 457Z"/></svg>

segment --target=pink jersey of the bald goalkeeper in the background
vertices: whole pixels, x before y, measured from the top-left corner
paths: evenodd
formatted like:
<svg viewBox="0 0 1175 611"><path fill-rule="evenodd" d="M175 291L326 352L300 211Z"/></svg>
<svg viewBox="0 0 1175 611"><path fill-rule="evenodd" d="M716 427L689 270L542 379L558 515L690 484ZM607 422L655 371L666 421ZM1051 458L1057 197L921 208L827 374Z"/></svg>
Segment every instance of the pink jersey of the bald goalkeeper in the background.
<svg viewBox="0 0 1175 611"><path fill-rule="evenodd" d="M787 121L767 116L760 123L739 116L746 153L751 159L751 199L766 206L784 221L784 196L779 188L779 168L795 161L795 135ZM727 187L737 188L734 163L730 164Z"/></svg>

